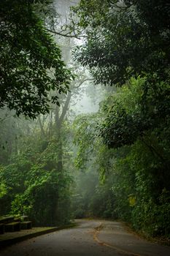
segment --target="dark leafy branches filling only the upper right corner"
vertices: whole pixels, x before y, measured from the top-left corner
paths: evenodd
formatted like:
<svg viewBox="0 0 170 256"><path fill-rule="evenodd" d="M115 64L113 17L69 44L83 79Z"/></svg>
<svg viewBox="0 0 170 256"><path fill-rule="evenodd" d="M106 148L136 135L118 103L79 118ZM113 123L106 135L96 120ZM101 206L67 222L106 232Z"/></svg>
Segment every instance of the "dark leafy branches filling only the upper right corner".
<svg viewBox="0 0 170 256"><path fill-rule="evenodd" d="M77 27L87 37L76 56L96 83L122 85L132 75L169 78L169 1L80 1Z"/></svg>

